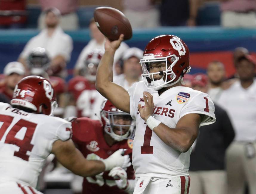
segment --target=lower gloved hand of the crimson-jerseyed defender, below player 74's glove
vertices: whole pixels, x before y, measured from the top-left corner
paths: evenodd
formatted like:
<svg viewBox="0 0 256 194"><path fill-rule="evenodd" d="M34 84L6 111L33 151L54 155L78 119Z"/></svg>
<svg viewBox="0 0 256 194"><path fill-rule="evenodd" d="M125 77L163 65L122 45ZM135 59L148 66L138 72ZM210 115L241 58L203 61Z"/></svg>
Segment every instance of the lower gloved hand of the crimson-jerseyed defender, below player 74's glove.
<svg viewBox="0 0 256 194"><path fill-rule="evenodd" d="M113 168L110 170L108 176L112 176L116 180L115 183L119 189L125 189L127 187L127 173L123 168L119 166Z"/></svg>

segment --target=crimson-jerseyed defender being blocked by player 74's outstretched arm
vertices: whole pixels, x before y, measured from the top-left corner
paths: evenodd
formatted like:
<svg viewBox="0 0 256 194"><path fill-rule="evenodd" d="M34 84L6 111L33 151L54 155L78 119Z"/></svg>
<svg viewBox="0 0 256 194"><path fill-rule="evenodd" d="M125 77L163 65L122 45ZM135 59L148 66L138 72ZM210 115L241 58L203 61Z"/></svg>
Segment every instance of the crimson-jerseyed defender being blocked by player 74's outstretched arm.
<svg viewBox="0 0 256 194"><path fill-rule="evenodd" d="M78 118L72 122L74 143L87 159L105 159L120 148L132 158L133 141L130 138L135 123L131 116L107 100L101 109L101 121ZM83 194L133 193L134 178L132 166L126 171L117 167L110 172L84 178Z"/></svg>

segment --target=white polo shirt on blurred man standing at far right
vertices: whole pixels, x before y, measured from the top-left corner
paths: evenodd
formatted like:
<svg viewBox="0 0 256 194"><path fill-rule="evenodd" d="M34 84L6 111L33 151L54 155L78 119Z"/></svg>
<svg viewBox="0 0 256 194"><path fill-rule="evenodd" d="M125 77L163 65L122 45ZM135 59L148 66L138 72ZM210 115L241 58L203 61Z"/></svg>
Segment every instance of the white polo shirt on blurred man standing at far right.
<svg viewBox="0 0 256 194"><path fill-rule="evenodd" d="M256 141L256 82L244 89L240 81L224 90L217 102L226 109L236 141Z"/></svg>

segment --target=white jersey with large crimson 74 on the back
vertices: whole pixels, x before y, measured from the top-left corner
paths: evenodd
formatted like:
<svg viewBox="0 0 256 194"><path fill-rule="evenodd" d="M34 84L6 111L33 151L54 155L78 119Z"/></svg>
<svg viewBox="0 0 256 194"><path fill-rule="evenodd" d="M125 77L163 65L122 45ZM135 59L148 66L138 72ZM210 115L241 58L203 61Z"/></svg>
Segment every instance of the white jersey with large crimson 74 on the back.
<svg viewBox="0 0 256 194"><path fill-rule="evenodd" d="M68 140L71 123L0 103L0 184L36 187L37 178L56 140Z"/></svg>

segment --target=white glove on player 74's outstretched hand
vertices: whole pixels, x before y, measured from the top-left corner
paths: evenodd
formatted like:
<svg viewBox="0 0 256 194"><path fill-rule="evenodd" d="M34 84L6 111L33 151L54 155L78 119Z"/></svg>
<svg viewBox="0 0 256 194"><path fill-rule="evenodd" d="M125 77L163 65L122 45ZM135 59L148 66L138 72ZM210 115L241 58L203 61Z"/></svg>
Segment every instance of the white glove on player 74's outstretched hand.
<svg viewBox="0 0 256 194"><path fill-rule="evenodd" d="M111 170L112 168L116 166L121 166L122 168L127 168L132 163L130 162L129 155L123 156L124 149L119 149L118 151L115 151L110 157L107 159L102 160L105 164L105 171Z"/></svg>

